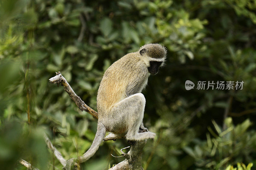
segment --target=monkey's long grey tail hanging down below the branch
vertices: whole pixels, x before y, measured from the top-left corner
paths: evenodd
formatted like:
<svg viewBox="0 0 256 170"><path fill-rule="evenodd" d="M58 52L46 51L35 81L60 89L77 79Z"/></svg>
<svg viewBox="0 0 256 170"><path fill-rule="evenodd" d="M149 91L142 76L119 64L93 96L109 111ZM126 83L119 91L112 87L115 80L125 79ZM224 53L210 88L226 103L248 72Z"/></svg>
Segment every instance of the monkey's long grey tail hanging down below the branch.
<svg viewBox="0 0 256 170"><path fill-rule="evenodd" d="M85 162L95 154L95 152L99 149L99 146L105 135L106 128L100 121L98 121L97 132L95 138L93 139L90 149L87 152L85 152L82 156L78 157L80 163Z"/></svg>

